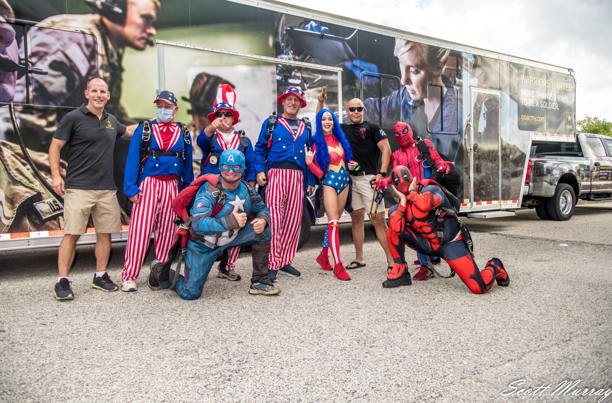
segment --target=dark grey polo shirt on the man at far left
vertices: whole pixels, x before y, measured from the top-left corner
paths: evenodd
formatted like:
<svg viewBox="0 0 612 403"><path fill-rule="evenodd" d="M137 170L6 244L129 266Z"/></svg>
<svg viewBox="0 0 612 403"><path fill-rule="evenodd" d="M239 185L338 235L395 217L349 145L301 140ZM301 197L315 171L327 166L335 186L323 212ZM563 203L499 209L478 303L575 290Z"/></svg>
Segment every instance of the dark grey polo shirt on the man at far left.
<svg viewBox="0 0 612 403"><path fill-rule="evenodd" d="M59 122L54 138L70 146L64 186L66 189L115 190L113 150L125 126L106 111L98 119L83 104Z"/></svg>

